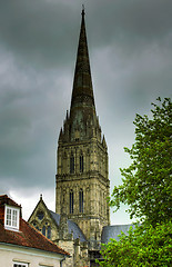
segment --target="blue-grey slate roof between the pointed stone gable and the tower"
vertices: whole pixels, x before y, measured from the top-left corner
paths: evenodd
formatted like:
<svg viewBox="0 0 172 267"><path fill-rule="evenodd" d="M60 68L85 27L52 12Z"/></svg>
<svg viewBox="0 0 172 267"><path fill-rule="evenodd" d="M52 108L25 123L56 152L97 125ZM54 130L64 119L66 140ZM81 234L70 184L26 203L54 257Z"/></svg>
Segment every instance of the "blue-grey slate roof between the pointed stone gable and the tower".
<svg viewBox="0 0 172 267"><path fill-rule="evenodd" d="M55 220L57 225L60 225L60 215L53 212L52 210L49 210L53 219ZM85 236L83 235L82 230L79 228L79 226L72 221L72 220L67 220L68 221L68 230L69 234L73 233L73 238L80 238L80 241L87 241Z"/></svg>

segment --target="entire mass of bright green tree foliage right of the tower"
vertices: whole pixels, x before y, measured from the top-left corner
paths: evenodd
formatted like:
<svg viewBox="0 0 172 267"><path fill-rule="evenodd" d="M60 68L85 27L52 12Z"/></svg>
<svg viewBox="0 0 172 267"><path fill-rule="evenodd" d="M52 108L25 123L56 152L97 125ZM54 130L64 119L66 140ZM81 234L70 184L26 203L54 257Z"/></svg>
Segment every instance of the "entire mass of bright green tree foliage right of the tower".
<svg viewBox="0 0 172 267"><path fill-rule="evenodd" d="M152 106L151 119L135 117L135 142L124 148L132 164L121 169L122 185L110 200L115 210L127 204L142 224L103 245L103 267L172 266L172 103L159 98Z"/></svg>

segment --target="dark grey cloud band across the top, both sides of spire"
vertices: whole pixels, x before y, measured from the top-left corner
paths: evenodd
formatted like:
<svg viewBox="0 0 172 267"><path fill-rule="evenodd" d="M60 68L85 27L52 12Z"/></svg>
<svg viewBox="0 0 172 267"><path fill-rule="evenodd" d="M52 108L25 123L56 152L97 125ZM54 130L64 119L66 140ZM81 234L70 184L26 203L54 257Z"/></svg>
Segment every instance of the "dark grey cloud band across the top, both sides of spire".
<svg viewBox="0 0 172 267"><path fill-rule="evenodd" d="M7 0L0 9L2 44L17 56L63 66L73 58L81 1ZM132 53L150 42L171 36L171 0L85 1L92 49L122 46ZM94 36L97 38L94 38ZM62 53L59 51L63 51Z"/></svg>

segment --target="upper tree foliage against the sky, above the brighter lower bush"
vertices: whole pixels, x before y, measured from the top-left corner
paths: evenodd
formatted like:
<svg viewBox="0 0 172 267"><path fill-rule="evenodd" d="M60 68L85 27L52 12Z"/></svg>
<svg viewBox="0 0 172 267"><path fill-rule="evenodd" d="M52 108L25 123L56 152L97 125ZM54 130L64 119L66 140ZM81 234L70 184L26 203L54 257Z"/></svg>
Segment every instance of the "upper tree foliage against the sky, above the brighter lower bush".
<svg viewBox="0 0 172 267"><path fill-rule="evenodd" d="M152 225L165 221L172 214L172 103L158 99L152 103L152 119L136 115L135 144L124 148L132 164L121 169L122 185L114 187L111 206L129 205L131 218L143 218Z"/></svg>

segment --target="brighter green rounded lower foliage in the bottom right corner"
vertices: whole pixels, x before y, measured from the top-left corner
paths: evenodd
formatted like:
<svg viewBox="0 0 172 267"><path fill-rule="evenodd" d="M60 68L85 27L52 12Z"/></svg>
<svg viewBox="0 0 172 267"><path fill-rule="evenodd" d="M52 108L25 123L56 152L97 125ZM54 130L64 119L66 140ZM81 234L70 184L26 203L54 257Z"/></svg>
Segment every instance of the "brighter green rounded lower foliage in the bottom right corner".
<svg viewBox="0 0 172 267"><path fill-rule="evenodd" d="M156 227L135 226L129 236L121 235L104 245L102 267L170 267L172 266L172 222Z"/></svg>

